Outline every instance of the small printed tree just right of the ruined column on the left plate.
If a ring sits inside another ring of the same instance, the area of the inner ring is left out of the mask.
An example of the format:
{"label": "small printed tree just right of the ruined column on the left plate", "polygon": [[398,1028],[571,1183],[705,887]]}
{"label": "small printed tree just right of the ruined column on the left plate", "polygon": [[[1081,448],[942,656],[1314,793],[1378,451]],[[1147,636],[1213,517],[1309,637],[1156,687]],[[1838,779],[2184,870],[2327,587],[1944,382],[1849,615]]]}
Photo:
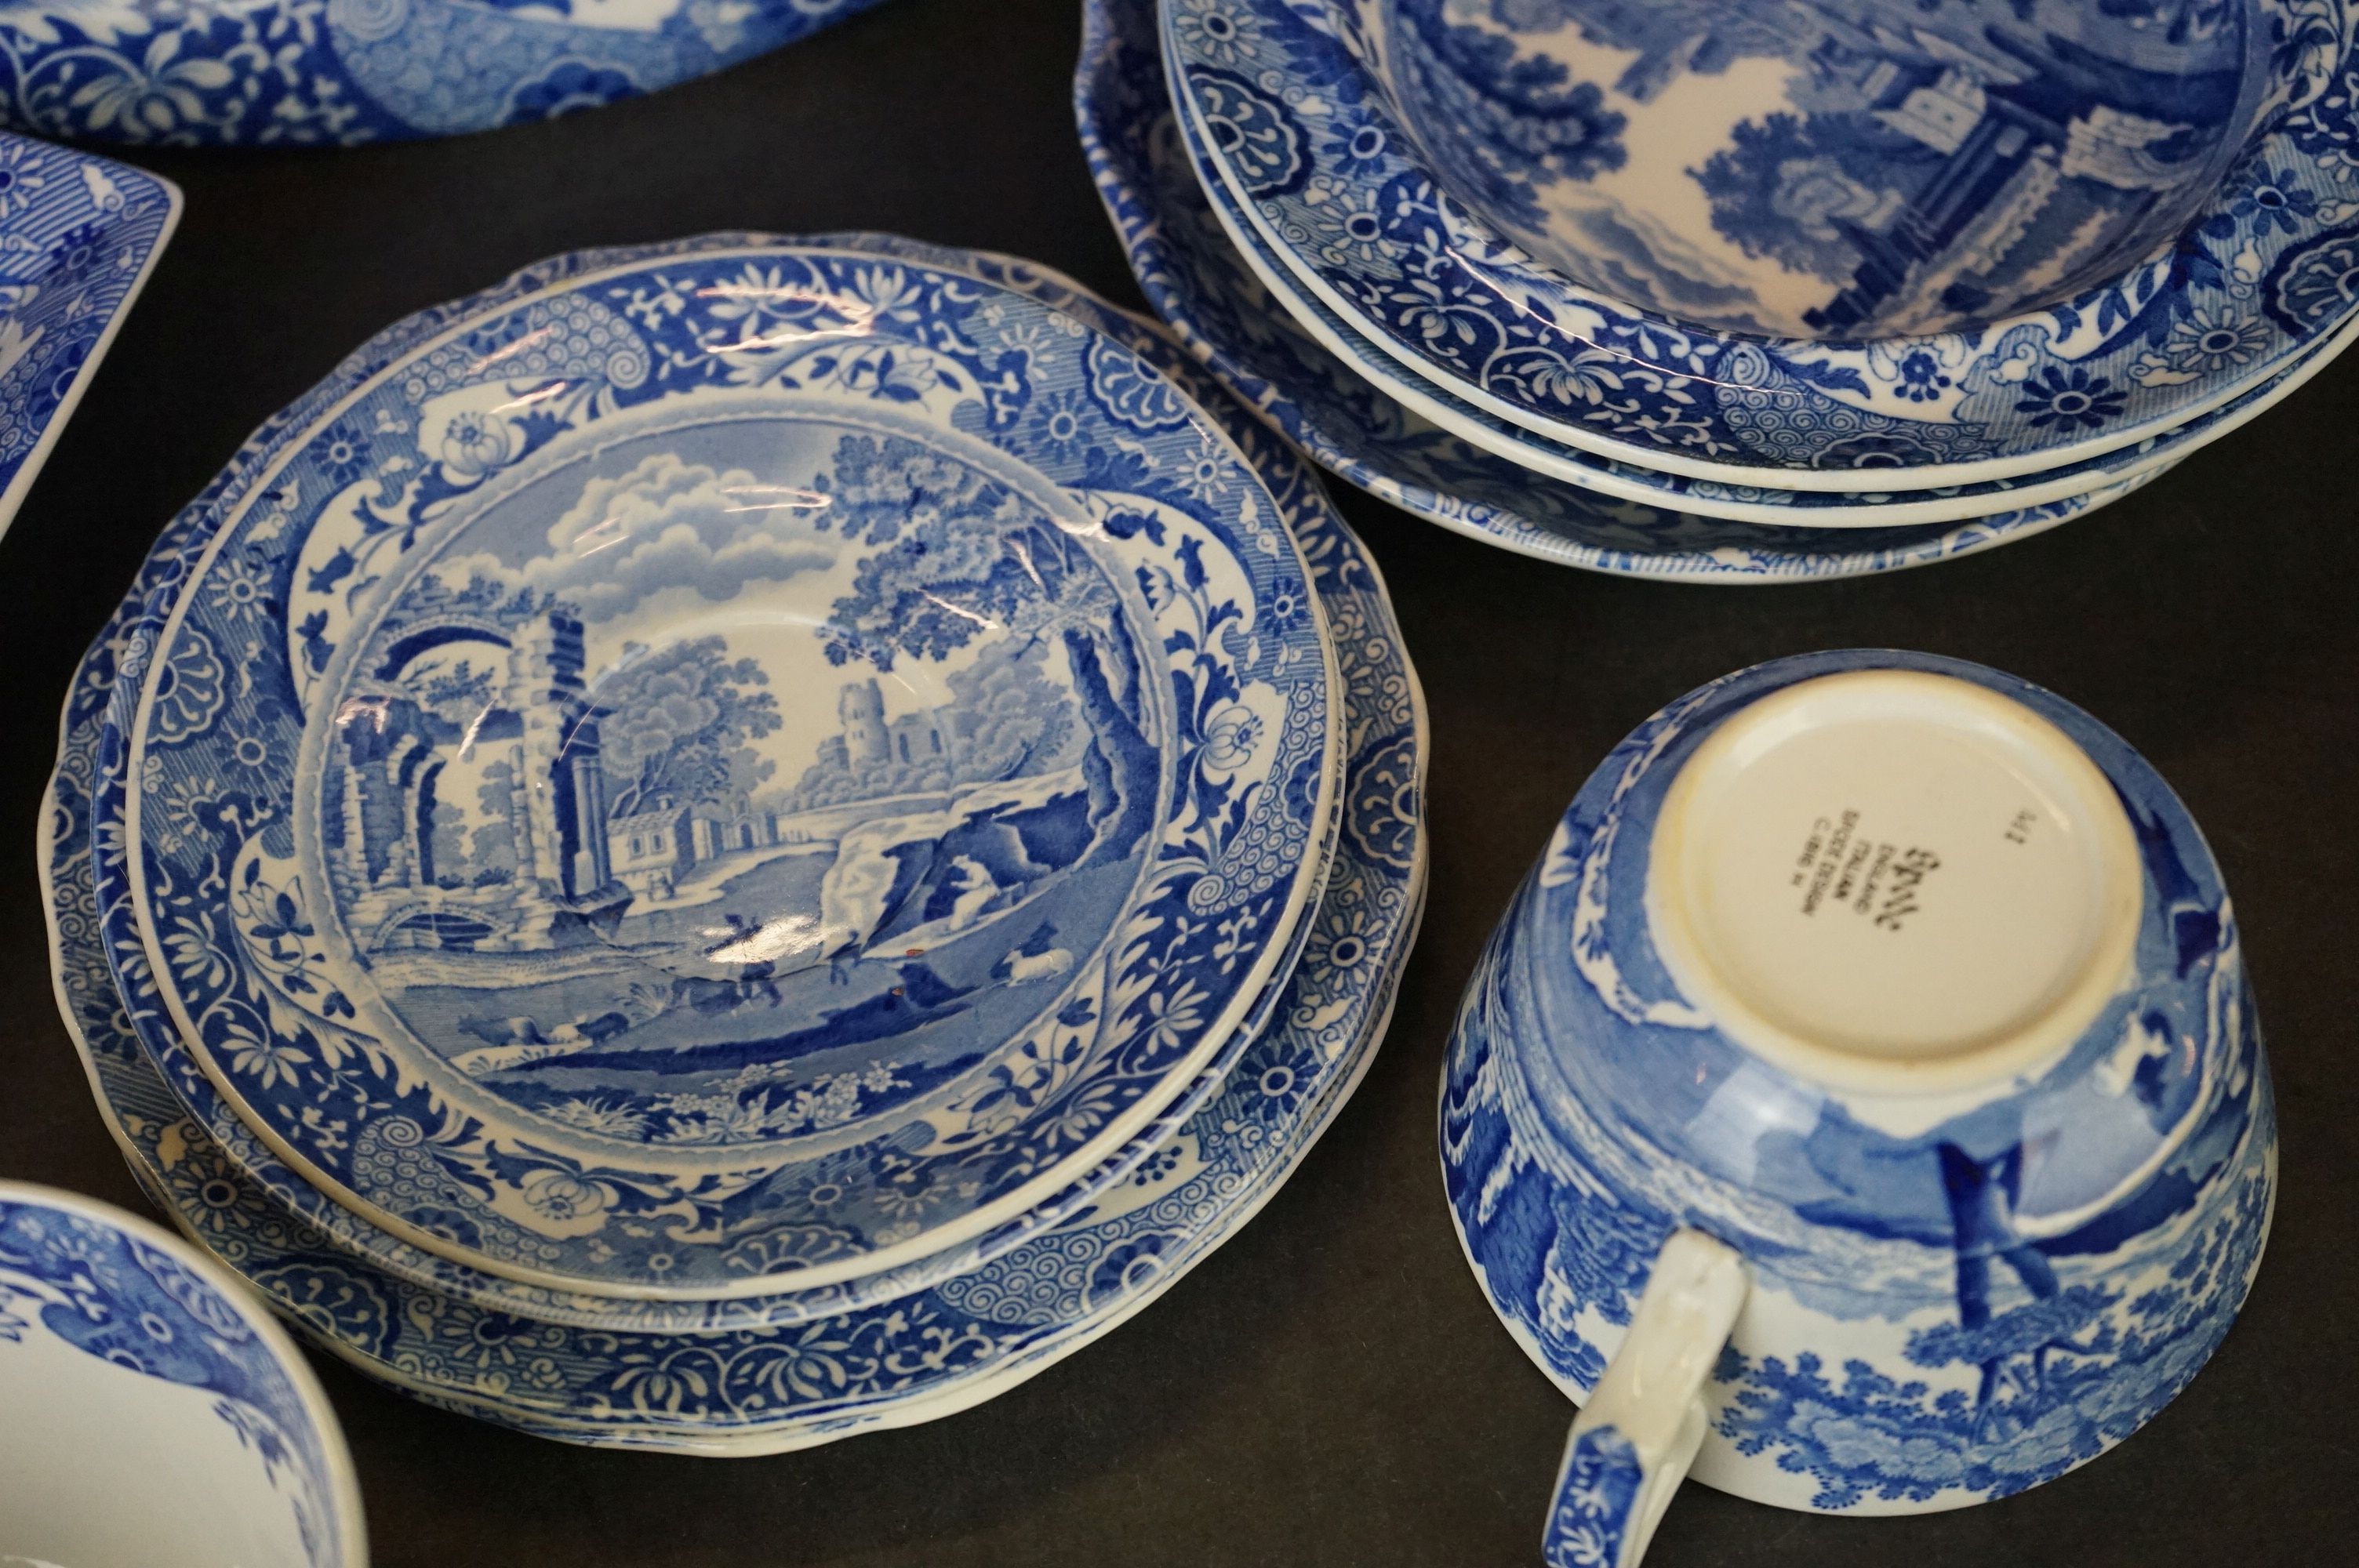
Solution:
{"label": "small printed tree just right of the ruined column on the left plate", "polygon": [[778,729],[778,698],[753,658],[722,637],[637,653],[599,691],[609,816],[717,804],[760,785],[771,764],[745,745]]}

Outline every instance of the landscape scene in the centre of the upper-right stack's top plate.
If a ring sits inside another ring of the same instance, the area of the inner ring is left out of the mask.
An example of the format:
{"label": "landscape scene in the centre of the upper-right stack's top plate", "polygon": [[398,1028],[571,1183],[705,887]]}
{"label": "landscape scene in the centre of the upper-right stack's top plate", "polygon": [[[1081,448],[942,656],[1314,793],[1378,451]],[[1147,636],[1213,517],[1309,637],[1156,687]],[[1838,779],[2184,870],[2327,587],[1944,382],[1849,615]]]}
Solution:
{"label": "landscape scene in the centre of the upper-right stack's top plate", "polygon": [[1359,9],[1467,210],[1585,288],[1774,337],[1951,330],[2137,266],[2269,71],[2255,0]]}

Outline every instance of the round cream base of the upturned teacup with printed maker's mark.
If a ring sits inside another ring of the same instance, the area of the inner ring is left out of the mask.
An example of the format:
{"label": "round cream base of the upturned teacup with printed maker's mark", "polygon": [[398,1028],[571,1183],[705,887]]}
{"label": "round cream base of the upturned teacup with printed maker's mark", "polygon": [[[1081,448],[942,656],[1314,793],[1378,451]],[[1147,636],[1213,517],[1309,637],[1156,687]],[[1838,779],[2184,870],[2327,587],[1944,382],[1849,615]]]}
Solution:
{"label": "round cream base of the upturned teacup with printed maker's mark", "polygon": [[1866,670],[1727,719],[1656,818],[1647,908],[1736,1042],[1852,1092],[1970,1089],[2059,1056],[2130,976],[2137,839],[2055,724]]}

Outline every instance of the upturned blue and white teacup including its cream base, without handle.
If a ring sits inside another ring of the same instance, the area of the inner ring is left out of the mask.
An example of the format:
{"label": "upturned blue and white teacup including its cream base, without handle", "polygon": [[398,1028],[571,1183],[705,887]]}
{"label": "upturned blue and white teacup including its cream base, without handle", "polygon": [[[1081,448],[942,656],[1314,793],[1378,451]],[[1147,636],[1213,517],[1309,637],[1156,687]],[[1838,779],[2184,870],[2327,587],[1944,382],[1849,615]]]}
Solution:
{"label": "upturned blue and white teacup including its cream base, without handle", "polygon": [[2062,698],[1882,651],[1715,681],[1597,769],[1467,988],[1441,1160],[1576,1401],[1661,1353],[1628,1325],[1665,1238],[1734,1254],[1694,1474],[1842,1514],[2135,1434],[2227,1335],[2276,1188],[2184,806]]}

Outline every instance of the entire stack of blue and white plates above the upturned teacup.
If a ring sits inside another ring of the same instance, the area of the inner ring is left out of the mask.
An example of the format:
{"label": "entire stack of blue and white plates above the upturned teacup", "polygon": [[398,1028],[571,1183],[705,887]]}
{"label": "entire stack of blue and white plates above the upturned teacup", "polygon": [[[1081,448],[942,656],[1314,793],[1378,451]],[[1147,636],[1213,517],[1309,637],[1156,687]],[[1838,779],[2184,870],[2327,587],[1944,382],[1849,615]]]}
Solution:
{"label": "entire stack of blue and white plates above the upturned teacup", "polygon": [[1345,479],[1786,580],[2092,512],[2359,309],[2352,0],[1090,0],[1156,309]]}

